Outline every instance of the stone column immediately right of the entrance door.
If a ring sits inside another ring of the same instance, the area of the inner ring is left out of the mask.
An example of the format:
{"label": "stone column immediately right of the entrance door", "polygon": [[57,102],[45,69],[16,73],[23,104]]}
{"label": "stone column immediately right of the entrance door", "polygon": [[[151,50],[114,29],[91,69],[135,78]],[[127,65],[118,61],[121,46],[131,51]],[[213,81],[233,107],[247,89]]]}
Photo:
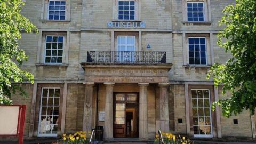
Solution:
{"label": "stone column immediately right of the entrance door", "polygon": [[149,83],[139,83],[139,138],[148,139],[148,95],[147,87]]}

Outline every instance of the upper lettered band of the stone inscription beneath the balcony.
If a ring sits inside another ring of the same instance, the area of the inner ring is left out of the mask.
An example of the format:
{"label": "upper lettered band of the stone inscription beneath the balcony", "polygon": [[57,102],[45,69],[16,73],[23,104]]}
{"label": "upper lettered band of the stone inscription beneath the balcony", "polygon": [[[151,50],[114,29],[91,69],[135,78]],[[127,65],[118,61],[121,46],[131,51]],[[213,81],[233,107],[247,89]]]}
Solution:
{"label": "upper lettered band of the stone inscription beneath the balcony", "polygon": [[167,77],[166,69],[85,69],[85,76],[156,76]]}

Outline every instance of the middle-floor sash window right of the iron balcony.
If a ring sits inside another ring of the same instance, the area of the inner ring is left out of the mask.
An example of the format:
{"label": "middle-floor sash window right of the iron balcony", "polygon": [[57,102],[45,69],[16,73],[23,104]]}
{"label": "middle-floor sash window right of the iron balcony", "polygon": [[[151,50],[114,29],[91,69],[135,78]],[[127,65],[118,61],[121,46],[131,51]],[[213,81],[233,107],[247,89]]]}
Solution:
{"label": "middle-floor sash window right of the iron balcony", "polygon": [[207,65],[205,37],[189,37],[188,49],[189,65]]}

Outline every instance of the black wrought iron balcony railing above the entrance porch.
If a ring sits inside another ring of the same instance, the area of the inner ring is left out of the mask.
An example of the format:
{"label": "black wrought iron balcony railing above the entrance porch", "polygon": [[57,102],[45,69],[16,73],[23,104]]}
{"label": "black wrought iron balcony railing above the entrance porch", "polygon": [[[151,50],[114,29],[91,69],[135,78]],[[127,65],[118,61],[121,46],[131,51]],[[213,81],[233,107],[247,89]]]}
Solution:
{"label": "black wrought iron balcony railing above the entrance porch", "polygon": [[166,52],[151,51],[88,51],[87,62],[92,63],[166,63]]}

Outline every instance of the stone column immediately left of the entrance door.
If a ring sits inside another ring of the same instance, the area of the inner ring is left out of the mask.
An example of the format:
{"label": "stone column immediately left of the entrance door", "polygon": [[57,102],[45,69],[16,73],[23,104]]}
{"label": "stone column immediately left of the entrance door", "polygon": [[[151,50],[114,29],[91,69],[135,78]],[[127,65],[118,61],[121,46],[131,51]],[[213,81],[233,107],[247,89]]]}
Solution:
{"label": "stone column immediately left of the entrance door", "polygon": [[115,83],[104,83],[106,86],[104,138],[113,138],[113,87]]}

